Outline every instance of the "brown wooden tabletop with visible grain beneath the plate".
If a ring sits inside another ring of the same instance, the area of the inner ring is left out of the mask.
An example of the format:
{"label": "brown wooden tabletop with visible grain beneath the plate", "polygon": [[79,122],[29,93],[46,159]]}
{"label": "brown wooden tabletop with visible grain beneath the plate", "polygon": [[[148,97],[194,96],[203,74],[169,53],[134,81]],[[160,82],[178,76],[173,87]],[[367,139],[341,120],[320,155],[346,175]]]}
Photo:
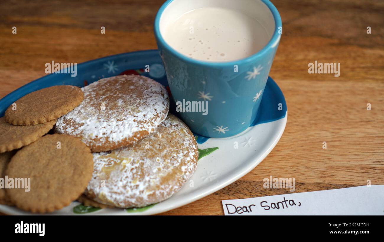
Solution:
{"label": "brown wooden tabletop with visible grain beneath the plate", "polygon": [[[81,63],[156,49],[152,25],[162,2],[2,1],[0,97],[46,75],[44,65],[52,60]],[[273,3],[283,20],[270,72],[288,106],[283,136],[252,172],[164,214],[222,215],[222,199],[289,193],[264,189],[263,178],[270,175],[295,178],[295,192],[366,185],[367,180],[384,184],[384,2]],[[308,74],[314,61],[340,63],[340,76]]]}

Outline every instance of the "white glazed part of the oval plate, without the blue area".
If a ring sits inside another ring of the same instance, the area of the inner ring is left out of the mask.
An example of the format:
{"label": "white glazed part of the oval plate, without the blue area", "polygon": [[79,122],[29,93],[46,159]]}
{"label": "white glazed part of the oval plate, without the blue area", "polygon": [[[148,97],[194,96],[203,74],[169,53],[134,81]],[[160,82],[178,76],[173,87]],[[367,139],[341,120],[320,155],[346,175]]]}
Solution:
{"label": "white glazed part of the oval plate, without the blue area", "polygon": [[[166,201],[157,203],[145,211],[127,213],[125,209],[106,208],[80,215],[157,214],[181,207],[208,196],[243,177],[260,164],[260,162],[262,162],[262,160],[271,152],[273,147],[276,146],[284,132],[286,121],[287,115],[276,121],[250,127],[237,136],[224,139],[210,138],[204,142],[204,144],[199,144],[199,149],[210,147],[219,147],[219,149],[199,160],[194,174],[180,191]],[[249,140],[250,142],[247,143]],[[234,148],[235,142],[238,142],[238,149]],[[76,214],[73,213],[73,208],[79,204],[79,202],[73,202],[69,206],[51,214]],[[15,207],[5,205],[0,205],[0,211],[14,215],[31,214]]]}

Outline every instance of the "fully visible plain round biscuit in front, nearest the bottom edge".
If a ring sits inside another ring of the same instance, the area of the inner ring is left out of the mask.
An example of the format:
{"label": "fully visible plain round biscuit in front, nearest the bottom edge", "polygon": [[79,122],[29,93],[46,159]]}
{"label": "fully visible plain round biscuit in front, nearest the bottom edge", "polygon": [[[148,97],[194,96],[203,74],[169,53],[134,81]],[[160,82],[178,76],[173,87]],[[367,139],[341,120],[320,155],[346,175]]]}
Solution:
{"label": "fully visible plain round biscuit in front, nearest the bottom edge", "polygon": [[91,179],[91,150],[80,139],[48,134],[23,147],[11,159],[8,178],[30,178],[30,191],[7,189],[12,203],[32,213],[61,209],[76,200]]}

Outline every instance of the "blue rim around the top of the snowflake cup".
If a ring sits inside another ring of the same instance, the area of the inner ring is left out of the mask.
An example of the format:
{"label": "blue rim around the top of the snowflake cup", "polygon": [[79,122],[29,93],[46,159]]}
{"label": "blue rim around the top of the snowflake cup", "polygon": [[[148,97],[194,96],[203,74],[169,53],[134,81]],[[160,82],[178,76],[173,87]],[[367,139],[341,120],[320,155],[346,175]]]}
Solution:
{"label": "blue rim around the top of the snowflake cup", "polygon": [[162,35],[160,33],[161,15],[164,12],[164,10],[168,7],[168,5],[173,1],[174,0],[167,0],[159,8],[159,11],[157,11],[155,23],[154,23],[154,32],[155,32],[155,36],[157,38],[157,41],[159,41],[162,46],[166,47],[166,49],[168,51],[170,51],[173,55],[175,55],[176,57],[178,57],[182,61],[189,62],[189,63],[195,64],[195,65],[204,65],[204,66],[209,66],[209,67],[223,67],[223,66],[228,66],[228,65],[247,64],[250,62],[254,62],[256,59],[263,56],[263,54],[265,54],[269,49],[274,48],[280,41],[281,34],[278,33],[278,28],[282,27],[282,24],[281,24],[281,17],[280,17],[279,11],[275,7],[275,5],[273,5],[273,3],[271,3],[269,0],[260,0],[269,8],[269,10],[271,11],[271,13],[273,15],[273,19],[275,20],[275,31],[273,33],[273,36],[270,39],[270,41],[260,51],[256,52],[255,54],[253,54],[251,56],[245,57],[243,59],[238,59],[235,61],[227,61],[227,62],[211,62],[211,61],[200,61],[200,60],[196,60],[196,59],[191,59],[191,58],[184,56],[183,54],[179,53],[172,46],[170,46],[164,40],[164,38],[162,37]]}

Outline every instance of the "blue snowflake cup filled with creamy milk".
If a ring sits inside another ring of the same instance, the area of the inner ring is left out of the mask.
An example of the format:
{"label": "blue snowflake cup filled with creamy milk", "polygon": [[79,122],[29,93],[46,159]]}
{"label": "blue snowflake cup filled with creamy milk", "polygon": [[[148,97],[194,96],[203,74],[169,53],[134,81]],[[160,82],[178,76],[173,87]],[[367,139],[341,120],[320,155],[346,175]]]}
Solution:
{"label": "blue snowflake cup filled with creamy milk", "polygon": [[257,120],[281,29],[268,0],[162,5],[154,24],[157,46],[176,110],[193,132],[229,137]]}

